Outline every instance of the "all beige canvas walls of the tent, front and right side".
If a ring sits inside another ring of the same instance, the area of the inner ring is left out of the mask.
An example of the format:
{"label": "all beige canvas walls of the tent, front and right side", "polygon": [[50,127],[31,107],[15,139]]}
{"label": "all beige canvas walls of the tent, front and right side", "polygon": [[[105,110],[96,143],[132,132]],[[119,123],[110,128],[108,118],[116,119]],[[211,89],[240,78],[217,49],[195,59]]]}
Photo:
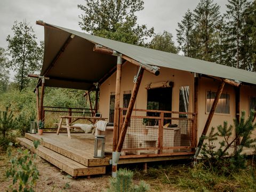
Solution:
{"label": "all beige canvas walls of the tent, front and right side", "polygon": [[[121,103],[120,106],[123,107],[123,92],[132,91],[133,89],[133,77],[137,74],[138,68],[131,63],[126,63],[122,67],[122,83],[121,83]],[[153,74],[145,71],[137,100],[135,102],[134,108],[137,109],[147,109],[147,90],[145,86],[150,82],[160,82],[160,81],[172,81],[173,92],[172,92],[172,111],[179,111],[179,88],[180,86],[189,86],[189,112],[193,112],[194,106],[194,75],[187,71],[174,70],[169,68],[161,68],[160,75],[155,76]],[[102,113],[102,117],[109,117],[109,103],[110,103],[110,93],[115,92],[115,82],[116,82],[116,73],[109,77],[101,86],[100,86],[100,101],[99,101],[99,111]],[[204,125],[209,113],[206,113],[206,91],[217,91],[220,82],[213,79],[200,77],[199,78],[199,91],[198,91],[198,126],[197,126],[197,142],[199,137],[202,134]],[[227,121],[228,124],[233,124],[233,119],[235,118],[235,90],[231,85],[226,84],[223,93],[228,93],[230,95],[230,114],[215,114],[213,116],[211,127],[217,127],[220,124],[223,124],[224,121]],[[241,110],[245,110],[248,114],[249,108],[249,96],[256,96],[256,88],[250,86],[241,87]],[[137,112],[136,115],[145,115],[143,113]],[[174,117],[174,115],[173,115]],[[209,131],[208,131],[209,133]],[[233,133],[234,136],[235,133]],[[256,136],[256,131],[253,133]],[[218,144],[219,141],[216,143]]]}

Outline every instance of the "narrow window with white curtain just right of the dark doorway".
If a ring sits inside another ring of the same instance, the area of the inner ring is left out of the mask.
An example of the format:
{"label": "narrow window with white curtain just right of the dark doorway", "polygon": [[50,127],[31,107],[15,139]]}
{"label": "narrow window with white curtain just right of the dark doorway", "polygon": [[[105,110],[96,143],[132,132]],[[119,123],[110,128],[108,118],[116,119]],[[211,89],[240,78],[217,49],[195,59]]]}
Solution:
{"label": "narrow window with white curtain just right of the dark doorway", "polygon": [[[189,86],[180,87],[179,111],[188,113]],[[188,118],[187,114],[179,114],[180,118]]]}

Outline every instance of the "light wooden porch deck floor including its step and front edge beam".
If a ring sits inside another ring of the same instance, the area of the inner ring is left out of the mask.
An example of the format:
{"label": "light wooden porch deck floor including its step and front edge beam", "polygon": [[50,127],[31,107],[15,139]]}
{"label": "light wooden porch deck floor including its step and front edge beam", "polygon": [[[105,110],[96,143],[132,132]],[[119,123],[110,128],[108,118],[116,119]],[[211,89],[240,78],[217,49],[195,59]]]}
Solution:
{"label": "light wooden porch deck floor including its step and front edge beam", "polygon": [[[67,133],[43,133],[42,135],[26,133],[25,138],[18,138],[21,145],[46,161],[59,167],[73,177],[82,175],[105,174],[106,166],[110,166],[112,142],[106,140],[106,157],[94,158],[94,135],[72,133],[68,139]],[[40,140],[37,150],[33,146],[34,140]],[[190,158],[193,153],[173,153],[159,156],[141,155],[141,157],[121,156],[118,164],[167,161],[171,159]]]}

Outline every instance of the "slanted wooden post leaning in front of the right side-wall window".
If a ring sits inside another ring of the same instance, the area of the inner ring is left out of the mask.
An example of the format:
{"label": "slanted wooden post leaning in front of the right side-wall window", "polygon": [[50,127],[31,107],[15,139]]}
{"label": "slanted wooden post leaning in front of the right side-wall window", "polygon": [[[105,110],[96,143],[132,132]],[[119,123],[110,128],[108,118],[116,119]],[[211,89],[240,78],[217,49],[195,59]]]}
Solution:
{"label": "slanted wooden post leaning in front of the right side-wall window", "polygon": [[215,99],[214,99],[214,101],[213,101],[213,103],[212,103],[211,111],[210,111],[210,113],[209,113],[209,115],[208,115],[207,121],[206,121],[206,123],[205,123],[205,125],[204,125],[203,133],[202,133],[202,135],[201,135],[201,137],[200,137],[200,139],[199,139],[198,145],[197,145],[196,153],[195,153],[195,156],[194,156],[195,161],[196,161],[197,155],[199,154],[199,152],[200,152],[200,150],[201,150],[201,147],[202,147],[202,145],[203,145],[204,138],[205,138],[206,133],[207,133],[207,131],[208,131],[208,129],[209,129],[209,126],[210,126],[210,124],[211,124],[212,117],[213,117],[213,115],[214,115],[214,112],[215,112],[215,109],[216,109],[216,107],[217,107],[218,101],[219,101],[219,99],[220,99],[221,93],[222,93],[222,91],[223,91],[224,85],[225,85],[225,82],[222,81],[222,82],[220,83],[219,87],[218,87],[218,90],[217,90]]}

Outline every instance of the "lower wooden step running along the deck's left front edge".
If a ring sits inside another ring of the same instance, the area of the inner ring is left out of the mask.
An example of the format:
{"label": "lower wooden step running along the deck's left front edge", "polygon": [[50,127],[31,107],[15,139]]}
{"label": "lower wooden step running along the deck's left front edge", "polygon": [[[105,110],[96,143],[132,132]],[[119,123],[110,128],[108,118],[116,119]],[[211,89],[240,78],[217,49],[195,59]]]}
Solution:
{"label": "lower wooden step running along the deck's left front edge", "polygon": [[28,148],[51,164],[59,167],[59,169],[70,174],[72,177],[106,173],[106,166],[87,167],[42,145],[39,145],[38,148],[35,149],[33,141],[27,138],[17,138],[17,141],[22,146]]}

